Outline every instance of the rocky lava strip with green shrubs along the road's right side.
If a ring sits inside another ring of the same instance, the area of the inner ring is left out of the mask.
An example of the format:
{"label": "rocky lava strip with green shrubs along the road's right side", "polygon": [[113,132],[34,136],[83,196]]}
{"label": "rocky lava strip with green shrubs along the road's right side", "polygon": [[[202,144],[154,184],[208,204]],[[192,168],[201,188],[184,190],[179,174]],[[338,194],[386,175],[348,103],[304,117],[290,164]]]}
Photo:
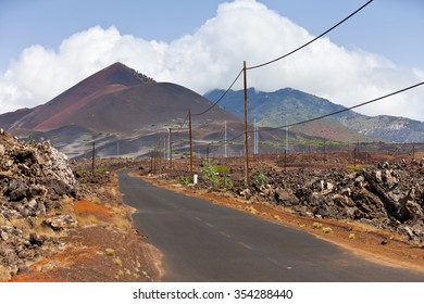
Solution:
{"label": "rocky lava strip with green shrubs along the road's right side", "polygon": [[[278,205],[302,217],[365,224],[423,246],[424,159],[352,166],[338,154],[328,154],[328,160],[336,156],[339,165],[333,168],[312,168],[310,164],[284,169],[277,159],[253,162],[249,189],[244,183],[242,162],[215,160],[217,165],[198,168],[196,188],[248,203]],[[176,164],[171,172],[162,169],[164,177],[183,185],[188,183],[184,174],[184,167],[178,170]]]}

